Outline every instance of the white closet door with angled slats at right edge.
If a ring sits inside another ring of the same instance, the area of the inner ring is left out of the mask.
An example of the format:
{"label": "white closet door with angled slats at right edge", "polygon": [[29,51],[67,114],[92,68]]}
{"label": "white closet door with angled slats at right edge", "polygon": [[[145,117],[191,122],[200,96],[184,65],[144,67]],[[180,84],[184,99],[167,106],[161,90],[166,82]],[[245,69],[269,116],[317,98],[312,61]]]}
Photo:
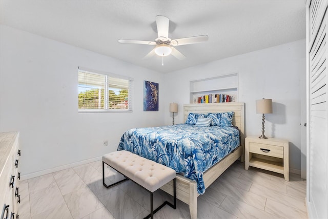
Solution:
{"label": "white closet door with angled slats at right edge", "polygon": [[[314,217],[328,218],[328,15],[325,1],[311,1],[309,51],[309,137],[310,179],[308,202]],[[323,5],[322,5],[323,4]],[[322,8],[325,6],[325,8]],[[321,8],[320,8],[321,7]],[[321,10],[320,10],[321,9]],[[324,10],[322,10],[324,9]],[[321,12],[321,15],[320,15]],[[320,18],[320,16],[321,18]],[[323,19],[322,19],[323,16]],[[311,217],[311,216],[310,216]]]}

